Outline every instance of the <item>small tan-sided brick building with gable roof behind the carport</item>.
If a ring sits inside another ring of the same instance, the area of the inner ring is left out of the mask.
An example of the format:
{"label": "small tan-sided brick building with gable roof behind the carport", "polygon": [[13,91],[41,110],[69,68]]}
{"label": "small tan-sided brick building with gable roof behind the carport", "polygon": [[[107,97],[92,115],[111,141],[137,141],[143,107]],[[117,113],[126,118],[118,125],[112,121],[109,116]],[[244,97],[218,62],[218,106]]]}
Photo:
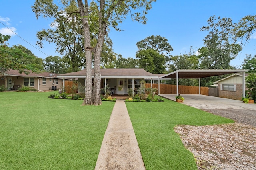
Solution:
{"label": "small tan-sided brick building with gable roof behind the carport", "polygon": [[[245,74],[247,77],[248,74]],[[232,74],[226,78],[214,82],[218,84],[218,94],[221,98],[229,98],[235,100],[242,99],[243,75],[240,73]],[[247,90],[247,89],[246,89]]]}

